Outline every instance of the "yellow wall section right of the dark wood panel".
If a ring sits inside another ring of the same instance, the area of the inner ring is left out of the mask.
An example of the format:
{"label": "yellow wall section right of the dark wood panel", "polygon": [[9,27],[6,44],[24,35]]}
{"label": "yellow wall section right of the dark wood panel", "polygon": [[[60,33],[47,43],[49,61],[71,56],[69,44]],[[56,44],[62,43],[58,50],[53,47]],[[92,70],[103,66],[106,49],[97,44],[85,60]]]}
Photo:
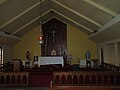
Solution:
{"label": "yellow wall section right of the dark wood panel", "polygon": [[91,58],[96,58],[96,44],[88,39],[82,31],[67,25],[67,50],[72,55],[72,63],[77,63],[78,58],[85,59],[86,50],[90,51]]}

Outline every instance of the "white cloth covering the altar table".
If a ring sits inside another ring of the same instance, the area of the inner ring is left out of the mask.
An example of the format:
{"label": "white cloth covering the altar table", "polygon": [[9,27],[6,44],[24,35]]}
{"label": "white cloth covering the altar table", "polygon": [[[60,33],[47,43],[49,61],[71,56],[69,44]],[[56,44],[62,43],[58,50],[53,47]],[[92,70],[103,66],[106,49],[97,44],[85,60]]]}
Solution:
{"label": "white cloth covering the altar table", "polygon": [[50,64],[62,64],[63,67],[64,66],[63,57],[39,57],[38,66]]}

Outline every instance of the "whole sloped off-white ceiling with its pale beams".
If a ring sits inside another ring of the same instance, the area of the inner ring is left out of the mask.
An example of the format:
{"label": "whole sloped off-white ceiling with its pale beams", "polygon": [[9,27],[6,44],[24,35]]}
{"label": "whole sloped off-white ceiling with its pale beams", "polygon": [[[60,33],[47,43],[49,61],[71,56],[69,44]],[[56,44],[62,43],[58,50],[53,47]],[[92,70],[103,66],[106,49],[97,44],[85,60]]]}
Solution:
{"label": "whole sloped off-white ceiling with its pale beams", "polygon": [[119,14],[120,0],[0,0],[0,41],[20,40],[40,20],[57,18],[100,43],[120,38]]}

